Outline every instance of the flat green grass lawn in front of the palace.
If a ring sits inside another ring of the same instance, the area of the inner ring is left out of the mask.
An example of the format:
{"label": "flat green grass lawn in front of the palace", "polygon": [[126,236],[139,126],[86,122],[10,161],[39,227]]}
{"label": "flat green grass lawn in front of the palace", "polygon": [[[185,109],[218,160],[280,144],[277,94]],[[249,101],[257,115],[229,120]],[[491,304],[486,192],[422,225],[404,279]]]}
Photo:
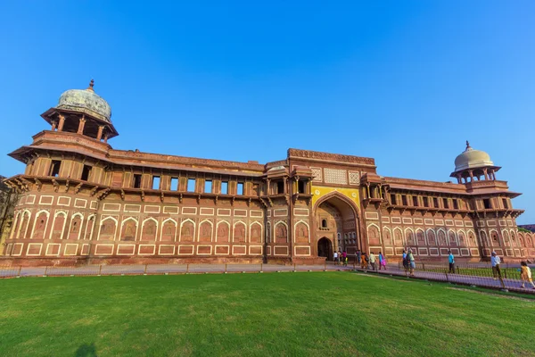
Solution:
{"label": "flat green grass lawn in front of the palace", "polygon": [[535,353],[535,300],[451,287],[350,272],[5,279],[0,355]]}

